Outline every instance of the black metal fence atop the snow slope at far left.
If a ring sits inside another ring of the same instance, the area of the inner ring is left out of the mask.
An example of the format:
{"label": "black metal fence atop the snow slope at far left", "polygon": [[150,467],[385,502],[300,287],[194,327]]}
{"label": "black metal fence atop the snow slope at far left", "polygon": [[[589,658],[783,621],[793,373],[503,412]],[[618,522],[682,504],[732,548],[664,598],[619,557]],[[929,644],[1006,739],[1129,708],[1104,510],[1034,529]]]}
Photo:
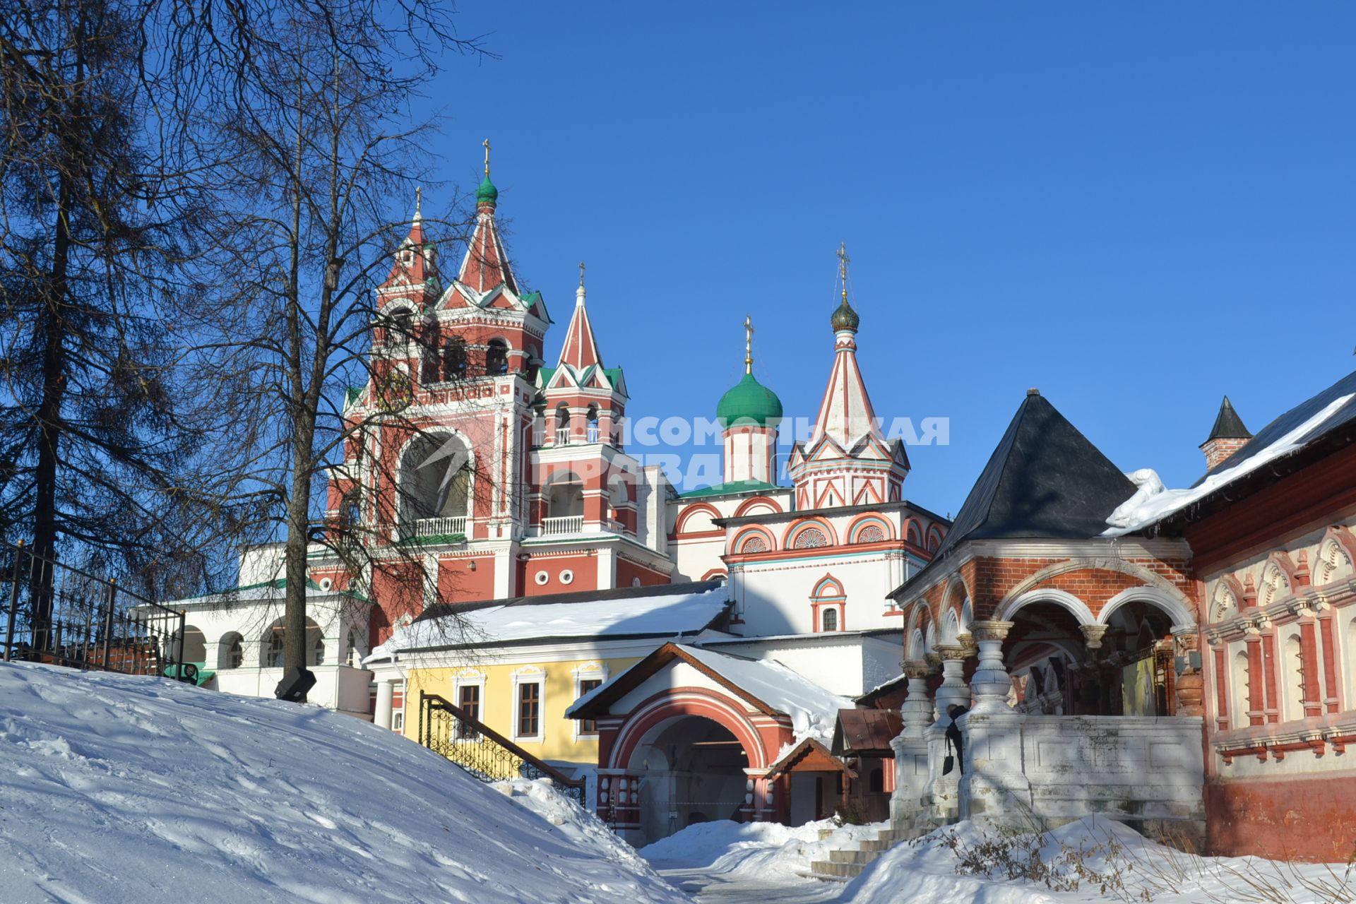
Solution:
{"label": "black metal fence atop the snow slope at far left", "polygon": [[118,587],[111,577],[0,546],[0,655],[133,675],[191,680],[184,614]]}

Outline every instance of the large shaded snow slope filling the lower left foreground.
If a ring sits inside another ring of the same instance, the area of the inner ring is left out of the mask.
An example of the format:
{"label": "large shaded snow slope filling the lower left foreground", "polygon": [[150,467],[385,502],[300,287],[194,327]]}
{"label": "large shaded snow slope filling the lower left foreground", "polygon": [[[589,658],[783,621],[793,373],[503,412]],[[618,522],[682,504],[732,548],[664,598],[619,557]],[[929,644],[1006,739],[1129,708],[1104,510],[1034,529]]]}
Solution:
{"label": "large shaded snow slope filling the lower left foreground", "polygon": [[5,904],[678,904],[544,783],[319,707],[0,664]]}

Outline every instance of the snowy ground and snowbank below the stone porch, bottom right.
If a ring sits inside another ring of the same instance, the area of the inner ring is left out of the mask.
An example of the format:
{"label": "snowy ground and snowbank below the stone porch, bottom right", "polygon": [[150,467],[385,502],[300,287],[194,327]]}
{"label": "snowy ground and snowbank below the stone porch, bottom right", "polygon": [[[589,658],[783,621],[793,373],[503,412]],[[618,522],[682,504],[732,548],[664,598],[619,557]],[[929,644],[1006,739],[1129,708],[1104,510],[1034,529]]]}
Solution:
{"label": "snowy ground and snowbank below the stone porch, bottom right", "polygon": [[1090,817],[1044,836],[984,832],[959,823],[896,844],[849,884],[797,878],[830,847],[872,834],[705,823],[640,854],[700,901],[757,904],[1074,904],[1157,901],[1349,904],[1356,871],[1345,865],[1290,865],[1257,858],[1204,858],[1146,840],[1120,823]]}

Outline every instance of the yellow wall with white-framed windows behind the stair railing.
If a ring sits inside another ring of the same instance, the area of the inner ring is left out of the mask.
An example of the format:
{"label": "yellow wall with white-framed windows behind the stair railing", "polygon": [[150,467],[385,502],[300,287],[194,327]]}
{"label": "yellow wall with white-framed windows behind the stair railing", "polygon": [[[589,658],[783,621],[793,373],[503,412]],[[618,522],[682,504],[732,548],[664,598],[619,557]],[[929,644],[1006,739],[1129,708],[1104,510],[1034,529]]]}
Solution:
{"label": "yellow wall with white-framed windows behind the stair railing", "polygon": [[[606,676],[620,675],[637,663],[629,659],[575,659],[536,663],[483,663],[479,665],[449,665],[411,668],[405,679],[404,729],[405,737],[419,740],[419,693],[438,694],[450,703],[460,703],[457,678],[465,675],[484,684],[480,691],[480,721],[513,740],[529,754],[544,760],[565,760],[584,766],[598,763],[598,736],[575,737],[575,720],[565,718],[565,710],[578,698],[575,693],[576,670],[587,670],[599,664],[606,667]],[[514,675],[526,680],[537,680],[533,670],[545,672],[541,705],[541,740],[519,740],[514,736],[518,716],[517,687]]]}

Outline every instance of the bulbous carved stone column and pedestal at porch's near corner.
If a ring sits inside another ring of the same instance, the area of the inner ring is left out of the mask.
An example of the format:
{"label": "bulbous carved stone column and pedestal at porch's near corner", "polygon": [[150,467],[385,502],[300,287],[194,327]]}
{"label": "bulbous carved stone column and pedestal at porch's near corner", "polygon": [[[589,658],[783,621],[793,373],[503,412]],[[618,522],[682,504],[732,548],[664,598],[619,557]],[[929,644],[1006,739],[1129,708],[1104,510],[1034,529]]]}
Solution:
{"label": "bulbous carved stone column and pedestal at porch's near corner", "polygon": [[957,722],[963,739],[960,816],[1020,825],[1032,800],[1022,751],[1026,714],[1008,706],[1012,679],[1002,660],[1003,638],[1012,626],[997,621],[972,625],[980,659],[971,678],[975,706]]}

